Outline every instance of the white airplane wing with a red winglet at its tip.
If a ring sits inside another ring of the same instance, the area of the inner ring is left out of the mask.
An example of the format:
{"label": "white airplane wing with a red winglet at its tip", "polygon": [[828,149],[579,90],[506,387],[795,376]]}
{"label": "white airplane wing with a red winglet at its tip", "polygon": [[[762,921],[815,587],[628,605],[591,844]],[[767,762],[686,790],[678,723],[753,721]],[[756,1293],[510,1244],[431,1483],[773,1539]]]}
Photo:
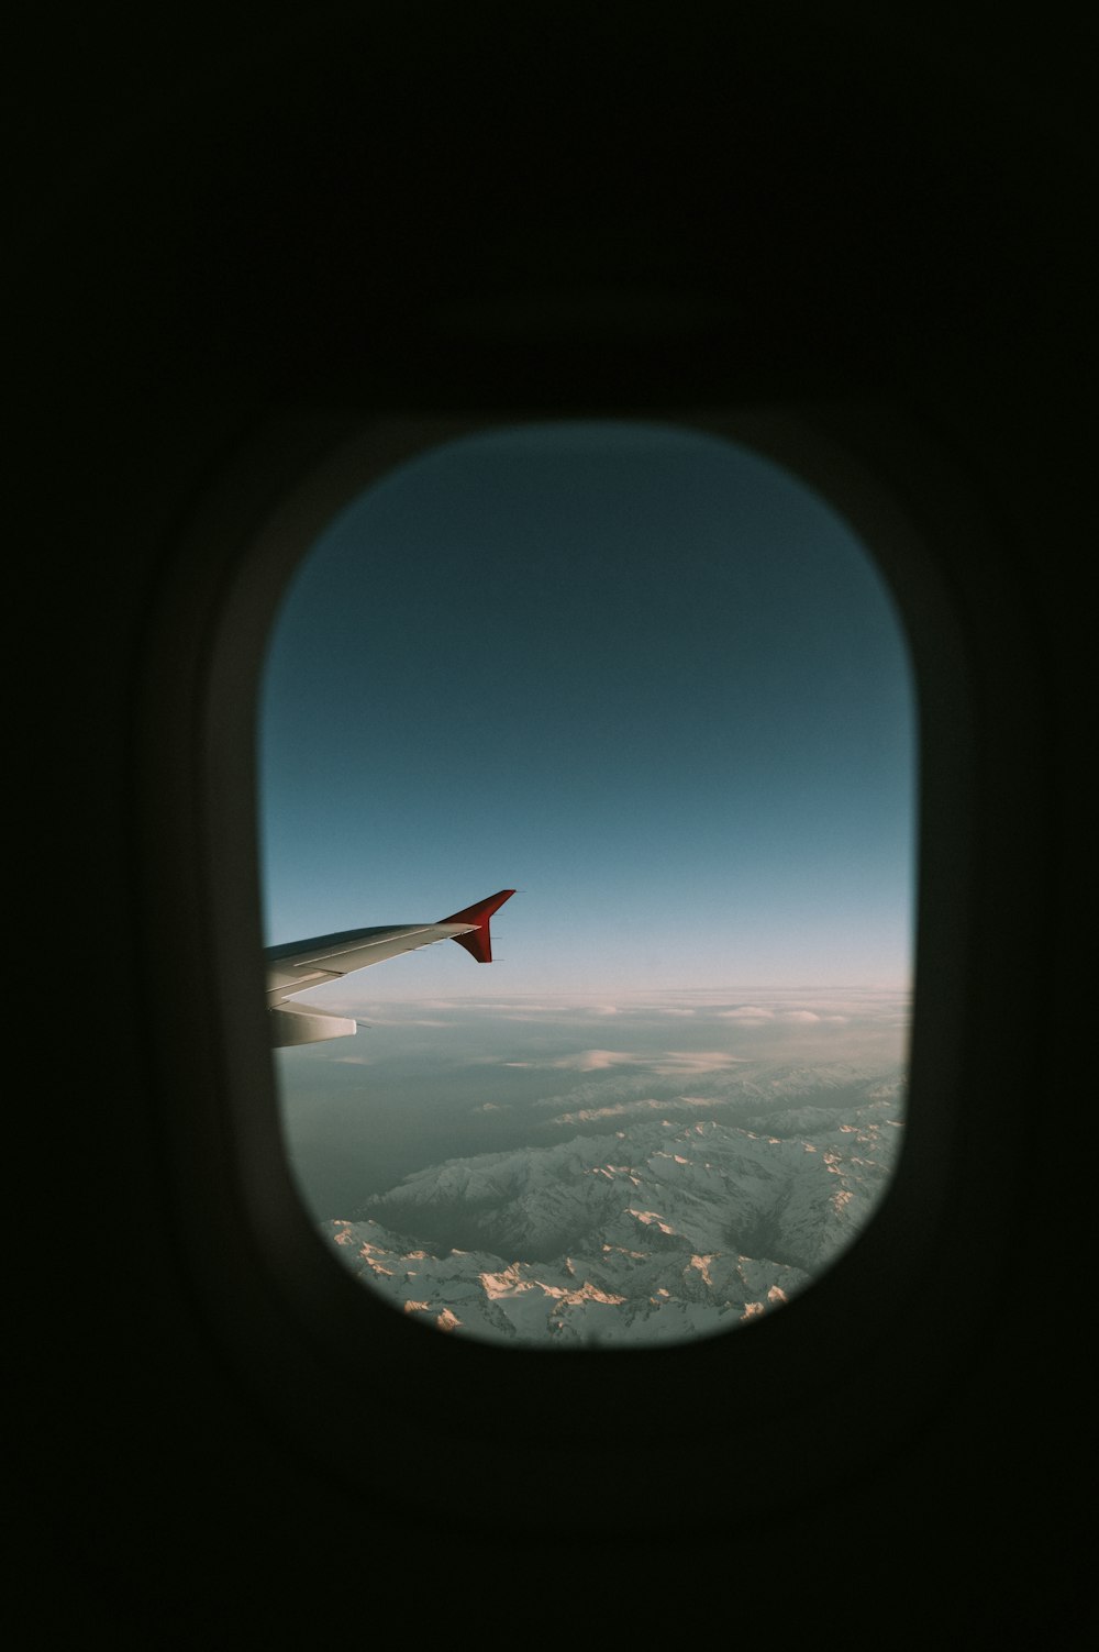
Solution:
{"label": "white airplane wing with a red winglet at its tip", "polygon": [[291,940],[281,947],[266,948],[268,965],[268,1014],[271,1018],[271,1042],[316,1044],[326,1037],[345,1037],[357,1029],[354,1019],[335,1016],[326,1009],[286,1003],[309,986],[337,981],[354,970],[365,970],[402,952],[416,952],[436,940],[456,940],[473,953],[478,963],[492,961],[492,937],[489,919],[514,895],[514,889],[478,900],[461,912],[451,912],[438,923],[397,923],[377,928],[340,930],[337,935],[314,935],[312,940]]}

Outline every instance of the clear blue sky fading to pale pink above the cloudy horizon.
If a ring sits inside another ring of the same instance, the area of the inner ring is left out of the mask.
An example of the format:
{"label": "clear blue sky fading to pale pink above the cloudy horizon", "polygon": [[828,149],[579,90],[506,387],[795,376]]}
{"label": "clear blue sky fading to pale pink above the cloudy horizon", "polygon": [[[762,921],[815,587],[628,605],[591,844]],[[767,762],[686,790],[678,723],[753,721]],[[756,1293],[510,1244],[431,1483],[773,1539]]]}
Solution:
{"label": "clear blue sky fading to pale pink above the cloudy horizon", "polygon": [[502,887],[496,957],[372,1001],[911,975],[916,707],[844,520],[676,426],[516,426],[344,509],[291,583],[261,704],[268,942]]}

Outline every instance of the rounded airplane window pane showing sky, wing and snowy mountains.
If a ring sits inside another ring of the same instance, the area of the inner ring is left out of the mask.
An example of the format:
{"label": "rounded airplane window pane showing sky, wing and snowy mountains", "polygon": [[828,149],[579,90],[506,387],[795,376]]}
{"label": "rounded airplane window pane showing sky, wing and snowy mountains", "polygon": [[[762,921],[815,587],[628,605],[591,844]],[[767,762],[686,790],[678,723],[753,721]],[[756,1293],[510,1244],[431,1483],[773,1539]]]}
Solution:
{"label": "rounded airplane window pane showing sky, wing and snowy mountains", "polygon": [[884,578],[760,453],[544,423],[354,497],[259,750],[283,1133],[334,1256],[509,1345],[790,1302],[901,1151],[916,781]]}

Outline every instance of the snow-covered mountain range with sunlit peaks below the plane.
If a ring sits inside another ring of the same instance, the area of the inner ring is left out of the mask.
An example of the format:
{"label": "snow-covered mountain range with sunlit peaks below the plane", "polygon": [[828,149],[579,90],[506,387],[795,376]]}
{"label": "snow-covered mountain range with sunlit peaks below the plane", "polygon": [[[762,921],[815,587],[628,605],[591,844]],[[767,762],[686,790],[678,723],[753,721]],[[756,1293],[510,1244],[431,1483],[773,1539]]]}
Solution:
{"label": "snow-covered mountain range with sunlit peaks below the plane", "polygon": [[450,1160],[324,1231],[365,1284],[443,1330],[544,1346],[724,1330],[851,1242],[901,1138],[896,1074],[785,1069],[752,1089],[749,1122],[649,1115]]}

